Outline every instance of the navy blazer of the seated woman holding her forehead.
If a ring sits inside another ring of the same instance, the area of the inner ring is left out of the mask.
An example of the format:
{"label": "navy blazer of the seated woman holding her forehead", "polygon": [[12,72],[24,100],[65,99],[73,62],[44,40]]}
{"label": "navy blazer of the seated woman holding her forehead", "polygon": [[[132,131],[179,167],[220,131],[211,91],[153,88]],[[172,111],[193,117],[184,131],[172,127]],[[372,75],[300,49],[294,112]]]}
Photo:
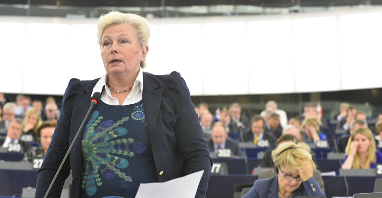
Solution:
{"label": "navy blazer of the seated woman holding her forehead", "polygon": [[[278,198],[277,179],[278,176],[256,180],[254,186],[243,198]],[[325,197],[325,193],[321,191],[314,177],[311,177],[293,191],[291,198],[296,196]]]}

